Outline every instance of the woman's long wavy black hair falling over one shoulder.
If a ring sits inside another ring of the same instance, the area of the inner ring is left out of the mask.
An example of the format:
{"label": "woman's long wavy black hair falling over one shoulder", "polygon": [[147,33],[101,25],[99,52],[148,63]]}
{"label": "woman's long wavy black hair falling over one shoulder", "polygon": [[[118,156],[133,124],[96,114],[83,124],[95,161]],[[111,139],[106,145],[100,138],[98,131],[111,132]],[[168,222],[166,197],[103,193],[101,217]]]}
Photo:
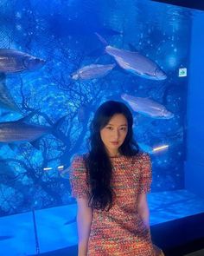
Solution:
{"label": "woman's long wavy black hair falling over one shoulder", "polygon": [[120,154],[132,156],[138,153],[137,143],[133,140],[131,111],[123,102],[108,101],[96,111],[90,127],[90,150],[85,162],[88,183],[91,187],[89,207],[109,211],[112,207],[114,191],[111,187],[112,162],[101,140],[100,130],[111,120],[113,115],[122,114],[128,123],[124,143],[118,148]]}

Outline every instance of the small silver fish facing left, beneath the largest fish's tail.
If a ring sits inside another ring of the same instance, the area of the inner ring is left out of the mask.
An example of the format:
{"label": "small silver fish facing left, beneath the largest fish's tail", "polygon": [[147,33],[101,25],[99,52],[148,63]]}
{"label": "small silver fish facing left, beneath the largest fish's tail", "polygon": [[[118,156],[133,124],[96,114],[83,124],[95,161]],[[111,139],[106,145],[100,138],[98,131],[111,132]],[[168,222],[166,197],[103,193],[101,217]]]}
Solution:
{"label": "small silver fish facing left, beneath the largest fish's tail", "polygon": [[107,64],[107,65],[100,65],[100,64],[91,64],[85,66],[81,69],[78,69],[74,72],[71,77],[73,80],[90,80],[96,79],[102,76],[107,75],[112,69],[114,69],[116,64]]}

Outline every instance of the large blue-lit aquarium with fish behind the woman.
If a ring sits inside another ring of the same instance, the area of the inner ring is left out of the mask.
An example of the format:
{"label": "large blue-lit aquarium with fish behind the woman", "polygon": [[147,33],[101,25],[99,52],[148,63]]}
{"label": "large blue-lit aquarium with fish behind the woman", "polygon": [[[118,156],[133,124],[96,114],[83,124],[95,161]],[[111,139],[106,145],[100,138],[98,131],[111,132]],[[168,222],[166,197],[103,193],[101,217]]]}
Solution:
{"label": "large blue-lit aquarium with fish behind the woman", "polygon": [[201,23],[199,10],[149,0],[0,1],[1,255],[77,245],[70,164],[108,100],[131,109],[150,154],[151,224],[194,201],[204,210]]}

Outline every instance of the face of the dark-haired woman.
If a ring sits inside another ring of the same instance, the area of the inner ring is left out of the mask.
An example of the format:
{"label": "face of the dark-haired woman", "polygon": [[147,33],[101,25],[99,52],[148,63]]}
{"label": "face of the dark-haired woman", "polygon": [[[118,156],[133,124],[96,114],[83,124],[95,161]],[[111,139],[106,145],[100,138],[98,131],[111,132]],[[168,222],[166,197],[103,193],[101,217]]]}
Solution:
{"label": "face of the dark-haired woman", "polygon": [[108,154],[115,155],[124,143],[128,132],[128,122],[123,114],[113,115],[110,121],[100,130],[101,140],[104,142]]}

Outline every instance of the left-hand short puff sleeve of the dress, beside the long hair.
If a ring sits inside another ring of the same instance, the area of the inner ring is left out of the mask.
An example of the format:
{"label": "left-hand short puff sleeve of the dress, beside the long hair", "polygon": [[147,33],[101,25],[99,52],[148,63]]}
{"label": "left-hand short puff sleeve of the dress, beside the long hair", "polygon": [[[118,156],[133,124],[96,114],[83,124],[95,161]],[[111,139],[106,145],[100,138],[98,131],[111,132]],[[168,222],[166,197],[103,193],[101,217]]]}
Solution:
{"label": "left-hand short puff sleeve of the dress, beside the long hair", "polygon": [[77,155],[73,158],[69,182],[72,197],[88,199],[89,188],[87,183],[85,161],[82,155]]}

